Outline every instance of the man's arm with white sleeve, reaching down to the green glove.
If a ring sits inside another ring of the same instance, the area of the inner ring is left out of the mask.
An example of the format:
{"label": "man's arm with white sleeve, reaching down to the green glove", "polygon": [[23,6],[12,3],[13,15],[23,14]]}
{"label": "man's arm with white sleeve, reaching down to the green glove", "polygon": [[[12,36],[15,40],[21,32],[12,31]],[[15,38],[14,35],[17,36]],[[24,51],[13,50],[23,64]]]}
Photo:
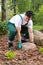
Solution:
{"label": "man's arm with white sleeve, reaching down to the green glove", "polygon": [[15,19],[15,22],[17,22],[16,23],[16,30],[17,30],[17,37],[18,37],[18,41],[20,41],[21,42],[21,34],[20,34],[20,31],[21,31],[21,24],[22,24],[22,19],[21,19],[21,17],[18,15],[18,17]]}

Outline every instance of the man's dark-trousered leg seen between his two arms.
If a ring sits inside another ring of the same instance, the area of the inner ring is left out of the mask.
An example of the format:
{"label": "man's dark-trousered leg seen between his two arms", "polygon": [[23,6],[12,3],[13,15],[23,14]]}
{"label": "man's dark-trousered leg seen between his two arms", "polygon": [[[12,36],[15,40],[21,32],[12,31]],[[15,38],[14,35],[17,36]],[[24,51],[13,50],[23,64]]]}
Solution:
{"label": "man's dark-trousered leg seen between his two arms", "polygon": [[28,27],[26,25],[21,26],[21,34],[23,34],[22,42],[26,42],[29,39]]}

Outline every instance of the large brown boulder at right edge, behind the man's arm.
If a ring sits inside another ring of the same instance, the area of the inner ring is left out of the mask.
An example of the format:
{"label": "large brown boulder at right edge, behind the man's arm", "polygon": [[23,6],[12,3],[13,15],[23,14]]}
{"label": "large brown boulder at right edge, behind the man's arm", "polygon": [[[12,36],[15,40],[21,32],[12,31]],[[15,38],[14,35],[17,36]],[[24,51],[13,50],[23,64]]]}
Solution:
{"label": "large brown boulder at right edge, behind the man's arm", "polygon": [[34,41],[36,44],[43,46],[43,33],[34,30]]}

